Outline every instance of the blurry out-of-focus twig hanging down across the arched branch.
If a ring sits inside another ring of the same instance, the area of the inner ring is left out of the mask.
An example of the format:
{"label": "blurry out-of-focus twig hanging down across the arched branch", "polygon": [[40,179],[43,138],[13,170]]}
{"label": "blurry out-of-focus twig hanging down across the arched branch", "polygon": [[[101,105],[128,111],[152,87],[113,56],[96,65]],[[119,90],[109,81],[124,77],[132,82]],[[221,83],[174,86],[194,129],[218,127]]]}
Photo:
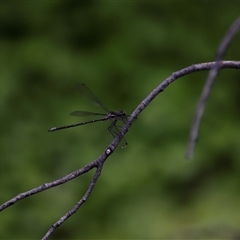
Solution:
{"label": "blurry out-of-focus twig hanging down across the arched branch", "polygon": [[202,119],[203,112],[205,109],[205,104],[210,95],[214,80],[220,69],[218,62],[223,58],[223,55],[226,52],[226,49],[227,49],[230,41],[232,40],[234,35],[237,33],[239,28],[240,28],[240,17],[229,28],[229,30],[227,31],[226,35],[224,36],[223,40],[221,41],[221,43],[218,47],[216,58],[215,58],[216,59],[215,67],[212,68],[208,74],[206,83],[203,87],[202,94],[201,94],[200,99],[197,104],[196,112],[194,114],[191,130],[190,130],[190,134],[189,134],[189,142],[188,142],[187,152],[186,152],[187,158],[192,158],[192,156],[193,156],[194,148],[195,148],[196,141],[198,138],[198,132],[199,132],[201,119]]}

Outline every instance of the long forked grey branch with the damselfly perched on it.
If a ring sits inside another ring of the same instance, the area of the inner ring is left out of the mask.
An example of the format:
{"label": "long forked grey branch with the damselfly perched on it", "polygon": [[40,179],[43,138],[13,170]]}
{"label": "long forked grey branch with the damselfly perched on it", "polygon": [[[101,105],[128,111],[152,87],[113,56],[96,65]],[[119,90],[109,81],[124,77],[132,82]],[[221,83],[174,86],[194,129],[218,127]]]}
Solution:
{"label": "long forked grey branch with the damselfly perched on it", "polygon": [[[133,113],[128,117],[128,121],[125,123],[125,125],[120,130],[121,135],[117,135],[113,141],[108,145],[108,147],[105,149],[105,151],[102,153],[101,156],[99,156],[96,160],[90,162],[89,164],[85,165],[81,169],[72,172],[65,177],[62,177],[58,180],[55,180],[53,182],[45,183],[37,188],[34,188],[30,191],[20,193],[16,197],[12,198],[11,200],[7,201],[6,203],[2,204],[0,206],[0,211],[6,209],[7,207],[15,204],[17,201],[26,198],[28,196],[34,195],[36,193],[40,193],[42,191],[45,191],[49,188],[56,187],[60,184],[66,183],[78,176],[83,175],[84,173],[87,173],[93,168],[97,168],[96,173],[94,174],[91,183],[85,193],[85,195],[79,200],[79,202],[65,215],[63,215],[56,223],[53,224],[53,226],[48,230],[46,235],[43,237],[43,239],[49,238],[51,233],[60,226],[66,219],[68,219],[73,213],[75,213],[82,204],[88,199],[90,196],[100,174],[101,170],[103,168],[103,164],[106,161],[106,159],[114,152],[117,145],[123,138],[123,136],[129,131],[132,123],[135,119],[137,119],[138,115],[149,105],[149,103],[162,91],[166,89],[167,86],[169,86],[171,83],[173,83],[175,80],[179,79],[180,77],[183,77],[187,74],[197,72],[197,71],[203,71],[203,70],[210,70],[216,66],[216,62],[207,62],[207,63],[200,63],[200,64],[193,64],[189,67],[186,67],[182,70],[179,70],[177,72],[172,73],[168,78],[166,78],[159,86],[157,86],[133,111]],[[235,68],[240,69],[240,62],[237,61],[219,61],[218,62],[219,69],[224,68]]]}

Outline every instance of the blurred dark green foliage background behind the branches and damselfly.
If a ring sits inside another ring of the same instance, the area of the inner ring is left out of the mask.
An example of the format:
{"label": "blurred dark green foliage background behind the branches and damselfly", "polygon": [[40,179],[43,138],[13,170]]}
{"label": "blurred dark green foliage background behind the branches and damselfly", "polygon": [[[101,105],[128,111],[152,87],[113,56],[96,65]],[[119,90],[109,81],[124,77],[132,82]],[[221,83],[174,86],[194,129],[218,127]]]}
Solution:
{"label": "blurred dark green foliage background behind the branches and damselfly", "polygon": [[[0,3],[0,204],[98,157],[108,123],[48,133],[98,111],[85,83],[130,114],[172,72],[212,61],[236,2]],[[239,60],[239,34],[225,59]],[[52,239],[240,238],[240,71],[221,71],[193,161],[185,159],[207,72],[179,79],[142,112],[89,200]],[[82,197],[93,172],[0,213],[1,239],[39,239]]]}

